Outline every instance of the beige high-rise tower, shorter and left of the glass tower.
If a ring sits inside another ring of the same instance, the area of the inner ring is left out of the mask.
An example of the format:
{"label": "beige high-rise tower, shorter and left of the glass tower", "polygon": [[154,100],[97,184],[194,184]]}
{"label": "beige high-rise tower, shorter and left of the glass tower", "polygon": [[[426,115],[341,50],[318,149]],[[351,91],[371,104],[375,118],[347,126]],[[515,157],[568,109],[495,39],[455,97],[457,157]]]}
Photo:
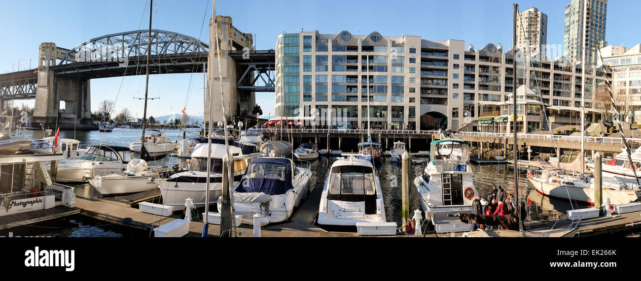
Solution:
{"label": "beige high-rise tower, shorter and left of the glass tower", "polygon": [[517,46],[531,53],[545,53],[547,44],[547,15],[537,8],[529,8],[519,12],[517,19]]}

